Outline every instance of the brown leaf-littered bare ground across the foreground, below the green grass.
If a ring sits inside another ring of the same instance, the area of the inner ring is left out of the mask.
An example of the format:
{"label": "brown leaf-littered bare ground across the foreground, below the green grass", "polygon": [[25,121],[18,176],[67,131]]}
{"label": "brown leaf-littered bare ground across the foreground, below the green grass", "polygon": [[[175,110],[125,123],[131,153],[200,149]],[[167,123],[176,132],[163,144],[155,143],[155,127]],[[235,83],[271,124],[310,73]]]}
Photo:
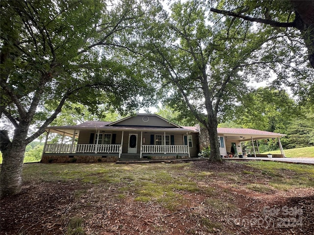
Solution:
{"label": "brown leaf-littered bare ground across the foreground, below the green grass", "polygon": [[[203,191],[180,192],[180,208],[169,211],[156,202],[136,202],[132,193],[117,198],[117,188],[64,182],[26,182],[19,195],[0,201],[1,235],[312,235],[314,190],[259,193],[235,187],[218,173],[257,171],[236,163],[193,163],[194,170],[214,172],[208,184],[221,205],[208,203]],[[216,174],[217,173],[217,174]],[[262,182],[254,174],[247,182]],[[245,183],[245,182],[244,182]],[[240,184],[240,183],[239,183]],[[203,187],[204,188],[204,187]],[[215,200],[212,200],[214,203]],[[235,205],[235,208],[231,205]],[[229,208],[230,207],[230,208]],[[228,210],[229,208],[229,210]],[[82,231],[70,231],[70,218],[82,218]]]}

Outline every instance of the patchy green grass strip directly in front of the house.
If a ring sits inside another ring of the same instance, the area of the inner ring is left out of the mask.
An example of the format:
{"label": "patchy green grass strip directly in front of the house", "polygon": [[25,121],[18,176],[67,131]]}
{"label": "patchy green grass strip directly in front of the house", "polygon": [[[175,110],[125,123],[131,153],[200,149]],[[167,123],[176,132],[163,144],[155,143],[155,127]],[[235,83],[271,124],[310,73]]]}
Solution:
{"label": "patchy green grass strip directly in front of the house", "polygon": [[[175,210],[180,203],[185,203],[182,192],[203,192],[210,196],[215,190],[208,183],[214,175],[233,185],[243,185],[243,180],[252,175],[267,178],[265,184],[244,183],[246,188],[262,193],[269,193],[274,188],[314,188],[314,167],[303,164],[278,162],[243,162],[260,170],[241,171],[238,174],[228,172],[195,172],[190,164],[27,164],[24,166],[24,181],[44,182],[80,182],[82,185],[116,185],[117,198],[133,194],[139,202],[157,202],[169,210]],[[199,184],[207,182],[207,184]],[[208,185],[209,184],[209,185]],[[83,192],[78,192],[77,197]],[[179,202],[181,201],[181,202]]]}

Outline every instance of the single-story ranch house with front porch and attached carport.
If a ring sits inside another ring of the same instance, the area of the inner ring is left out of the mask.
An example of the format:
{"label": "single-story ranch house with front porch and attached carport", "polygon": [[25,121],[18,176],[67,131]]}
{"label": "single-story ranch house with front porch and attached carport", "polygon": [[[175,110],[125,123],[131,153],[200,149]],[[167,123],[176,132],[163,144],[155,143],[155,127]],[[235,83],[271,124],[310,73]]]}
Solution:
{"label": "single-story ranch house with front porch and attached carport", "polygon": [[[283,134],[243,128],[218,128],[220,154],[242,153],[241,142],[280,138]],[[115,122],[86,121],[73,126],[49,126],[41,162],[115,162],[197,158],[208,146],[207,131],[179,126],[156,114],[136,114]],[[47,143],[50,133],[62,135],[61,143]],[[64,137],[72,138],[63,143]],[[257,143],[257,142],[256,142]],[[256,146],[258,148],[258,145]],[[281,147],[282,149],[282,147]],[[281,157],[284,157],[282,150]]]}

